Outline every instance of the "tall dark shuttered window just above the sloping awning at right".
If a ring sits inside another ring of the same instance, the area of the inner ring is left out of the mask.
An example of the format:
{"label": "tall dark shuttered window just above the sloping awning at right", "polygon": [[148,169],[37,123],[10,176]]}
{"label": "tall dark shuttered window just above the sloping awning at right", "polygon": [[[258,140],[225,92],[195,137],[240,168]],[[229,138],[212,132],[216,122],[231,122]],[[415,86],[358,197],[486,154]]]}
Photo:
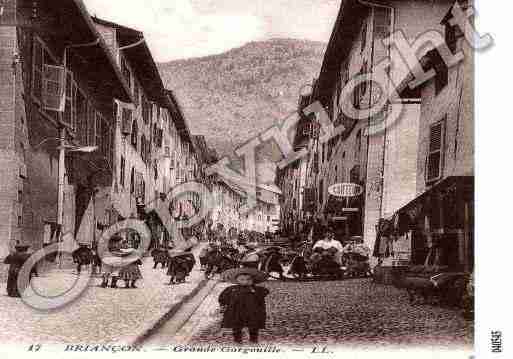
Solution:
{"label": "tall dark shuttered window just above the sloping awning at right", "polygon": [[426,164],[426,183],[432,183],[442,177],[443,150],[445,138],[445,119],[429,128],[429,151]]}

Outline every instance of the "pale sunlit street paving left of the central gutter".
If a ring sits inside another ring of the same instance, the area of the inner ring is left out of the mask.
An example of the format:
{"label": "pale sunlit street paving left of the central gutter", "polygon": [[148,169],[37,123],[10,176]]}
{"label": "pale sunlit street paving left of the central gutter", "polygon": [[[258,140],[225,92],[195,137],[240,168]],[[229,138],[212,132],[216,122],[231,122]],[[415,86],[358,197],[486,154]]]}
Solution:
{"label": "pale sunlit street paving left of the central gutter", "polygon": [[[54,269],[33,281],[35,290],[56,295],[76,280],[74,269]],[[7,267],[2,268],[7,269]],[[93,278],[90,287],[74,302],[45,313],[25,305],[20,298],[0,295],[0,342],[3,344],[116,343],[139,333],[145,325],[159,319],[174,304],[189,294],[203,279],[195,268],[185,284],[169,286],[165,269],[153,269],[152,258],[141,266],[143,279],[137,289],[101,288],[101,278]]]}

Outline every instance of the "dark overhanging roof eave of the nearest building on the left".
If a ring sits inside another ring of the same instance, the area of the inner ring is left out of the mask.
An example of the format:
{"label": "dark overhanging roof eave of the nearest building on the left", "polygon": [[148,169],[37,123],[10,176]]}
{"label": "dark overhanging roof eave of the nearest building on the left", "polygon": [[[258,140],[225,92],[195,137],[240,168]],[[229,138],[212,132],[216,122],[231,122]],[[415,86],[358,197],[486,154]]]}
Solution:
{"label": "dark overhanging roof eave of the nearest building on the left", "polygon": [[75,47],[84,61],[83,68],[91,82],[101,87],[104,92],[124,102],[132,102],[130,88],[112,53],[96,29],[82,0],[54,0],[40,2],[38,6],[46,7],[44,11],[57,13],[59,20],[58,41],[66,45],[88,44],[98,41],[97,45]]}

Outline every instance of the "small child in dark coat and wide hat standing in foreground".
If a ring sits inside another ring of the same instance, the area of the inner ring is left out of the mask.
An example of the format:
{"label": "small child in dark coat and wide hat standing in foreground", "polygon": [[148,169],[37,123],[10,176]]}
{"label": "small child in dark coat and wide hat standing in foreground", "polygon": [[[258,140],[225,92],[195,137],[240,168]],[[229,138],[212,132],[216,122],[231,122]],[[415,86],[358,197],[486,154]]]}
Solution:
{"label": "small child in dark coat and wide hat standing in foreground", "polygon": [[221,327],[232,329],[237,344],[242,344],[242,330],[248,328],[249,341],[258,343],[259,331],[265,328],[265,297],[269,290],[256,284],[265,281],[267,274],[254,268],[236,268],[224,272],[223,277],[235,285],[219,295]]}

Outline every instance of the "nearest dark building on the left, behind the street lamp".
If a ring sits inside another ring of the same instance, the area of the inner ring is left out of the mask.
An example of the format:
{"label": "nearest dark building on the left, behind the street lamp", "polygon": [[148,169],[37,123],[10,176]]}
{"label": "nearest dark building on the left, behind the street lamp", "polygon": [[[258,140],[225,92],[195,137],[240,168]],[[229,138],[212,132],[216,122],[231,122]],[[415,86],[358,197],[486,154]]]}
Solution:
{"label": "nearest dark building on the left, behind the street lamp", "polygon": [[56,235],[58,146],[97,146],[65,158],[62,234],[75,236],[95,188],[113,172],[115,100],[126,80],[81,1],[9,2],[1,15],[0,256]]}

